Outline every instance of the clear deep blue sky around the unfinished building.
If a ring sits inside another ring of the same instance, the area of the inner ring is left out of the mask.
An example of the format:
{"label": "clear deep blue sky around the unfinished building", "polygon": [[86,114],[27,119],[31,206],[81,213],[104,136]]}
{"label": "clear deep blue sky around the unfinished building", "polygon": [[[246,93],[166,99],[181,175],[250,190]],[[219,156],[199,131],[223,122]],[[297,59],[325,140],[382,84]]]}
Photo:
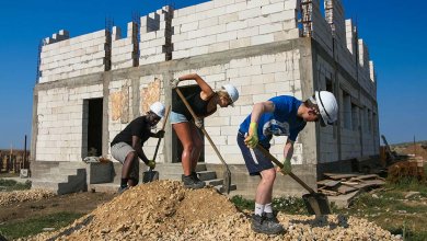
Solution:
{"label": "clear deep blue sky around the unfinished building", "polygon": [[[200,0],[16,0],[0,1],[0,149],[23,148],[32,128],[37,47],[42,38],[65,28],[71,37],[104,28],[105,18],[123,30],[132,12],[141,15],[174,2]],[[346,18],[358,25],[378,74],[380,134],[389,142],[427,140],[427,37],[425,10],[418,1],[343,0]]]}

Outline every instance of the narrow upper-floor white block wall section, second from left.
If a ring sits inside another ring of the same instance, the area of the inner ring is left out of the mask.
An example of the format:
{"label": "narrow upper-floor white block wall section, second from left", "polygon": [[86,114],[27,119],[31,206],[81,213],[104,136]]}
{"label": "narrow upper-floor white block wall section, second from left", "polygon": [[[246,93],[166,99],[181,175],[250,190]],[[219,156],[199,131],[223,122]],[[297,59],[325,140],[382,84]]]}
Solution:
{"label": "narrow upper-floor white block wall section, second from left", "polygon": [[112,70],[135,67],[138,64],[138,25],[127,24],[127,35],[122,38],[122,31],[114,26],[112,33]]}

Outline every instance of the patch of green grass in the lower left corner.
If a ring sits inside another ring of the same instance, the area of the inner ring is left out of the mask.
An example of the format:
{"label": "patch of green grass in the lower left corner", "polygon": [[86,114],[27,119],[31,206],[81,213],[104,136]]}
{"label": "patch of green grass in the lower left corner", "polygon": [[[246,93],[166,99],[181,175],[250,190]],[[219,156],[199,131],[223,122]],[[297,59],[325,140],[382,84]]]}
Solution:
{"label": "patch of green grass in the lower left corner", "polygon": [[82,214],[74,213],[57,213],[39,218],[12,221],[0,225],[0,233],[8,240],[34,236],[43,232],[44,228],[55,228],[55,230],[58,230],[82,216]]}

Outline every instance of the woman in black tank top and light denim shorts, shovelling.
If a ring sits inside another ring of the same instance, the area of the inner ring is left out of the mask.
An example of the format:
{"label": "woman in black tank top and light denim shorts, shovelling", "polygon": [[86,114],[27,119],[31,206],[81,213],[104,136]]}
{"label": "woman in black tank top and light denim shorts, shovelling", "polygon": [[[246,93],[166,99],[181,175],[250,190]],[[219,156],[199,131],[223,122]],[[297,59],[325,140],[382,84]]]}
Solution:
{"label": "woman in black tank top and light denim shorts, shovelling", "polygon": [[171,124],[184,148],[181,159],[184,170],[184,186],[187,188],[201,188],[206,184],[198,179],[195,171],[203,148],[203,140],[197,131],[197,127],[201,127],[203,118],[217,111],[217,105],[220,107],[233,105],[239,99],[239,91],[232,84],[224,84],[219,91],[215,92],[197,73],[185,74],[173,80],[171,83],[172,89],[177,88],[178,82],[182,80],[195,80],[201,89],[200,92],[185,96],[198,118],[192,120],[192,114],[184,102],[178,99],[172,106]]}

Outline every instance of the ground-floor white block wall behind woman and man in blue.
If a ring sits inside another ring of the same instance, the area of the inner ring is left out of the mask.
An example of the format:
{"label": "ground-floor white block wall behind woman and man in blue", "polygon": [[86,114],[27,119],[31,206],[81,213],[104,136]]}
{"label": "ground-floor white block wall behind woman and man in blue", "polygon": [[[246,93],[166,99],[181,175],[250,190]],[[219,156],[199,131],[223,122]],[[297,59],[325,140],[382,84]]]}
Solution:
{"label": "ground-floor white block wall behind woman and man in blue", "polygon": [[[276,95],[302,96],[300,78],[300,51],[298,49],[274,55],[258,55],[249,58],[232,59],[231,61],[189,69],[174,73],[174,78],[188,72],[197,72],[212,88],[219,90],[230,82],[239,90],[240,97],[234,107],[219,108],[205,119],[205,127],[223,158],[231,164],[242,164],[243,158],[236,144],[240,124],[252,112],[255,103],[266,101]],[[194,81],[183,81],[181,84],[194,84]],[[275,137],[272,141],[272,153],[278,159],[282,156],[284,137]],[[208,140],[205,140],[205,161],[220,163]],[[297,140],[292,162],[303,164],[303,147]]]}

